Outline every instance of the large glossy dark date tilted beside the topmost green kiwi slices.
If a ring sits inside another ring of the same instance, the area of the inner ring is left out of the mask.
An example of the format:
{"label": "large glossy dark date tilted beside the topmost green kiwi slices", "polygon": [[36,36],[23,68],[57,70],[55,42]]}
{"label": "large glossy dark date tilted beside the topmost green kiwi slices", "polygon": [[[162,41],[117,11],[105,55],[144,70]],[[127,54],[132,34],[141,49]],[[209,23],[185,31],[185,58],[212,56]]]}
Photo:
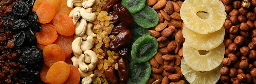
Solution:
{"label": "large glossy dark date tilted beside the topmost green kiwi slices", "polygon": [[133,18],[129,10],[120,3],[114,5],[114,11],[119,16],[119,20],[125,25],[129,26],[133,23]]}

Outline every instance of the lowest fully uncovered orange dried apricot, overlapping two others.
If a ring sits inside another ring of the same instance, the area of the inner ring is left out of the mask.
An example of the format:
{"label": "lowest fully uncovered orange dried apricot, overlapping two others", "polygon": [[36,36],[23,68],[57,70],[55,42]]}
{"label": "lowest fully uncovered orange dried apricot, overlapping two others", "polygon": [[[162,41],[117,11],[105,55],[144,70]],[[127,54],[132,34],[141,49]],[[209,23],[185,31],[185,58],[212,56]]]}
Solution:
{"label": "lowest fully uncovered orange dried apricot, overlapping two others", "polygon": [[69,77],[70,68],[64,61],[54,63],[47,72],[46,79],[51,84],[62,84]]}

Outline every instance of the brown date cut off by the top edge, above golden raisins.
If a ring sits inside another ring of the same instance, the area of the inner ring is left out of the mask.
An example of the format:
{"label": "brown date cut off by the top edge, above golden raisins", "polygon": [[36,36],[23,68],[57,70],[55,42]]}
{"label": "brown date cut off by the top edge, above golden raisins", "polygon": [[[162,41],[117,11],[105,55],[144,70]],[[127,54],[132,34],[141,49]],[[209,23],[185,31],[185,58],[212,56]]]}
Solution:
{"label": "brown date cut off by the top edge, above golden raisins", "polygon": [[121,3],[122,0],[107,0],[101,8],[101,11],[111,12],[113,6],[117,3]]}

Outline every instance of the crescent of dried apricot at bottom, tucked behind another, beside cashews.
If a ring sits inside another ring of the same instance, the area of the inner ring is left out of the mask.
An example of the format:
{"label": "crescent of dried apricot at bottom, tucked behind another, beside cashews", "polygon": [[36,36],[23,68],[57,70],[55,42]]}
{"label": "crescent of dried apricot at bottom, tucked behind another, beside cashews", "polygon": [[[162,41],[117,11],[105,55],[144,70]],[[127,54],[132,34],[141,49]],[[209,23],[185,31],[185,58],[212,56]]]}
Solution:
{"label": "crescent of dried apricot at bottom, tucked behind another, beside cashews", "polygon": [[76,68],[76,66],[72,64],[67,64],[67,65],[69,65],[69,68],[70,68],[69,77],[63,84],[78,84],[80,81],[79,70]]}

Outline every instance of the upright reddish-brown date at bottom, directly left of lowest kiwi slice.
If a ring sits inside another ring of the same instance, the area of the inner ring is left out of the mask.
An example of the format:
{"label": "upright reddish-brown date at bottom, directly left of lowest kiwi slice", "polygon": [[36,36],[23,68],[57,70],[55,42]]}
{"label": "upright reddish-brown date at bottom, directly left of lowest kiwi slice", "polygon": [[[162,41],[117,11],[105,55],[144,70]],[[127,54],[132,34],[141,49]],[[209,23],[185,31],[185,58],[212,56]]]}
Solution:
{"label": "upright reddish-brown date at bottom, directly left of lowest kiwi slice", "polygon": [[128,72],[129,72],[129,67],[128,67],[128,61],[124,57],[120,57],[118,60],[118,74],[119,74],[119,81],[122,83],[126,83],[128,79]]}

